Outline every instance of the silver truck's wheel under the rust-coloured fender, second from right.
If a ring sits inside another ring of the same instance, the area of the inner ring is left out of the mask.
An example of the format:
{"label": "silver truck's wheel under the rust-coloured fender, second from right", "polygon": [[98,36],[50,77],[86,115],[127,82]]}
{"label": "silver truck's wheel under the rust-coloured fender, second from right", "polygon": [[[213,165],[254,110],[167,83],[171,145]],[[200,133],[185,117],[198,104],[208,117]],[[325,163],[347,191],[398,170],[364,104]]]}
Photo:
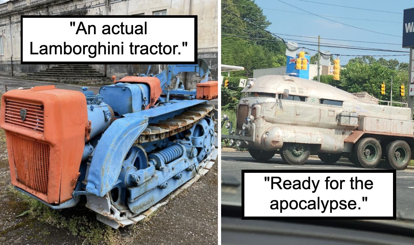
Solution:
{"label": "silver truck's wheel under the rust-coloured fender, second from right", "polygon": [[381,144],[375,138],[363,138],[356,142],[356,157],[365,168],[375,168],[380,163]]}

